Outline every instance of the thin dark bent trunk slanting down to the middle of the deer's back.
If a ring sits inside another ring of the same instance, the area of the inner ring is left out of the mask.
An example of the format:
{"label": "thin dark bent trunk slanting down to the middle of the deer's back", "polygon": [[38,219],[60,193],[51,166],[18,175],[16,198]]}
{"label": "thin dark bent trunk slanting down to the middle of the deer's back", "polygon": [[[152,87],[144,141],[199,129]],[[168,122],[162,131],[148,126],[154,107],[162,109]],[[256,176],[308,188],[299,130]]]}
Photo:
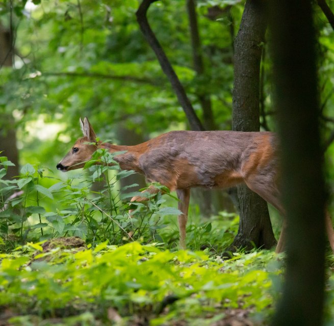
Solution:
{"label": "thin dark bent trunk slanting down to the middle of the deer's back", "polygon": [[171,86],[177,96],[177,99],[181,106],[183,107],[183,110],[187,116],[187,119],[189,121],[190,127],[192,130],[204,130],[201,122],[199,121],[198,117],[196,116],[196,113],[194,111],[194,108],[192,107],[189,98],[187,97],[187,94],[179,81],[173,67],[171,66],[163,48],[161,47],[158,39],[156,38],[155,34],[153,33],[152,29],[150,28],[150,25],[147,21],[146,13],[149,8],[149,6],[158,0],[143,0],[141,5],[139,6],[136,16],[137,21],[140,26],[140,29],[152,48],[153,51],[155,51],[156,56],[158,58],[158,61],[160,63],[160,66],[163,70],[163,72],[166,74],[166,76],[169,79],[169,82],[171,83]]}

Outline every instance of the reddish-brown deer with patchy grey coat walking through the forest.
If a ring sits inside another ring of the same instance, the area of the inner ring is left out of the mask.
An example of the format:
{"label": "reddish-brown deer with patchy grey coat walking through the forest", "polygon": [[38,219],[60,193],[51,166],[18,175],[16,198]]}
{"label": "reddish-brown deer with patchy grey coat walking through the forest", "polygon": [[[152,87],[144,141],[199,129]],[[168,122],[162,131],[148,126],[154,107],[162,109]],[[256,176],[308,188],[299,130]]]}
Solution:
{"label": "reddish-brown deer with patchy grey coat walking through the forest", "polygon": [[[279,142],[270,131],[187,131],[163,133],[147,142],[134,145],[114,145],[96,140],[96,134],[87,118],[80,118],[83,137],[79,138],[57,165],[67,172],[80,169],[97,149],[110,153],[122,170],[143,174],[147,182],[159,182],[170,191],[176,191],[178,209],[179,244],[186,249],[186,225],[190,189],[229,188],[246,184],[278,212],[285,216],[279,192]],[[159,192],[150,185],[143,192]],[[146,201],[147,196],[135,196],[131,202]],[[334,253],[334,229],[326,211],[325,225]],[[284,250],[286,221],[284,220],[276,252]]]}

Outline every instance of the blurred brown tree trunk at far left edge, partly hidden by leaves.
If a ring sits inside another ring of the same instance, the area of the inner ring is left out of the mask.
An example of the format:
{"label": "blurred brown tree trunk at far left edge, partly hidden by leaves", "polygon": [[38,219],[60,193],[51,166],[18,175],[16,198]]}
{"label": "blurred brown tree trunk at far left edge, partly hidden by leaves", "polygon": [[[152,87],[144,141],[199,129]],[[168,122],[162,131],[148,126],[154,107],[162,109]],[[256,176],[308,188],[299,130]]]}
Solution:
{"label": "blurred brown tree trunk at far left edge, partly hidden by leaves", "polygon": [[[1,67],[12,67],[13,65],[13,44],[12,34],[0,25],[0,65]],[[1,69],[1,68],[0,68]],[[18,150],[16,146],[16,130],[14,118],[11,114],[4,114],[0,123],[0,154],[7,156],[15,167],[8,167],[6,177],[11,179],[19,174]]]}

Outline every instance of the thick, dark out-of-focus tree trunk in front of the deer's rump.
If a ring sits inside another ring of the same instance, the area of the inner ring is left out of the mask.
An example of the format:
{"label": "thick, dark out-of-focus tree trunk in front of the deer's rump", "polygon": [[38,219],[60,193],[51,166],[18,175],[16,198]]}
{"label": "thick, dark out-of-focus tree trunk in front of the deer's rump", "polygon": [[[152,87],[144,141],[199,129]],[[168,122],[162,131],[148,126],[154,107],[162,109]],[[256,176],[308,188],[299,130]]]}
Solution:
{"label": "thick, dark out-of-focus tree trunk in front of the deer's rump", "polygon": [[272,0],[275,102],[287,211],[287,268],[273,325],[322,324],[325,190],[312,3]]}

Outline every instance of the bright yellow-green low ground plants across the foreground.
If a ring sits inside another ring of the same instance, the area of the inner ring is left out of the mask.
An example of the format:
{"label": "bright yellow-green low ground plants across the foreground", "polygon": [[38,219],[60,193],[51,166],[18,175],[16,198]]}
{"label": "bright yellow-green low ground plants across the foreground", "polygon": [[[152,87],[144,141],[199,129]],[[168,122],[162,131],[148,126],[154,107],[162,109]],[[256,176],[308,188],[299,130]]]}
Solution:
{"label": "bright yellow-green low ground plants across the foreground", "polygon": [[63,241],[0,256],[0,316],[8,324],[214,325],[244,311],[262,325],[280,288],[281,260],[269,251],[222,261],[139,242],[66,249],[73,238]]}

